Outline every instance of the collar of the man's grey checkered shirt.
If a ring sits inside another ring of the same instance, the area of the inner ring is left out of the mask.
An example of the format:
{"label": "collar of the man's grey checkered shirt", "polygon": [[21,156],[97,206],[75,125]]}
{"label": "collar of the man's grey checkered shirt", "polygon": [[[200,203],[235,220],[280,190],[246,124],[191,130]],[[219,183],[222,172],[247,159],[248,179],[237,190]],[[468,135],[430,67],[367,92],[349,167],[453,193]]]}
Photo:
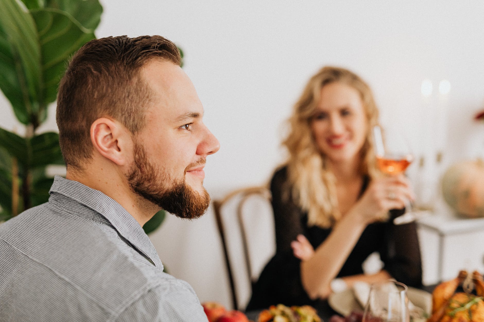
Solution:
{"label": "collar of the man's grey checkered shirt", "polygon": [[139,223],[118,202],[99,190],[80,182],[55,176],[49,193],[58,193],[85,205],[106,218],[133,247],[144,254],[156,268],[163,270],[158,253]]}

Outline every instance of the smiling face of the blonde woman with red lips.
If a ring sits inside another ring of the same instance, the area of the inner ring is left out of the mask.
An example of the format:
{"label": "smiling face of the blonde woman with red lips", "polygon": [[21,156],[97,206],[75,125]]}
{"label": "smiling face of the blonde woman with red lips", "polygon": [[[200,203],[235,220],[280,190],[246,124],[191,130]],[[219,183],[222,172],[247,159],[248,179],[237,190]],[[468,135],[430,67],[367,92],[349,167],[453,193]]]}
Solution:
{"label": "smiling face of the blonde woman with red lips", "polygon": [[319,152],[329,161],[353,161],[360,157],[368,125],[360,93],[355,88],[339,82],[321,88],[310,125]]}

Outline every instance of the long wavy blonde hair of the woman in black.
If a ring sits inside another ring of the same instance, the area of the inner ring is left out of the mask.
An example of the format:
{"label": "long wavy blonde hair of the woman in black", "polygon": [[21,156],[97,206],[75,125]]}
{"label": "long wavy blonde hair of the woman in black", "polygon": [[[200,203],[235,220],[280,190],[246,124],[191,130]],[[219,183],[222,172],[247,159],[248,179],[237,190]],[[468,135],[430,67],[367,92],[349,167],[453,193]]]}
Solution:
{"label": "long wavy blonde hair of the woman in black", "polygon": [[[316,146],[311,132],[311,118],[323,86],[339,82],[358,90],[368,122],[368,133],[362,147],[361,173],[377,176],[375,154],[371,144],[371,127],[378,124],[378,108],[370,87],[358,75],[344,68],[326,66],[311,77],[289,117],[289,133],[282,145],[287,147],[287,173],[290,193],[308,212],[308,225],[331,227],[341,218],[336,198],[335,178],[327,167],[325,156]],[[287,196],[288,198],[289,196]]]}

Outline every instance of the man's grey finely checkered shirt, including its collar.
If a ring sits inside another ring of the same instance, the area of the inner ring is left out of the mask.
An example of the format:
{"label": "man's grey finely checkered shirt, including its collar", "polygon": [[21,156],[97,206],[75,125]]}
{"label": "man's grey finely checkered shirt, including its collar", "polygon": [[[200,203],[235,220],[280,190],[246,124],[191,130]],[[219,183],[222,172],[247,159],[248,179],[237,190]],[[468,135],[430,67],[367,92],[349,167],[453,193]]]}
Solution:
{"label": "man's grey finely checkered shirt, including its collar", "polygon": [[0,321],[207,318],[120,204],[57,176],[47,203],[0,225]]}

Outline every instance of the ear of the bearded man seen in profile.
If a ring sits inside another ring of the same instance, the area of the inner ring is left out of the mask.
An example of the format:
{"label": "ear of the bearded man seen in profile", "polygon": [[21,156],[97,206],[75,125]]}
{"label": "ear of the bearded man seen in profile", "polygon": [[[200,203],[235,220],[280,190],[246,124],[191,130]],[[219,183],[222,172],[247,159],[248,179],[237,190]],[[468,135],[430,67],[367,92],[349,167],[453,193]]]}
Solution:
{"label": "ear of the bearded man seen in profile", "polygon": [[99,154],[117,165],[130,162],[132,139],[128,129],[120,122],[106,117],[96,119],[91,124],[91,142]]}

